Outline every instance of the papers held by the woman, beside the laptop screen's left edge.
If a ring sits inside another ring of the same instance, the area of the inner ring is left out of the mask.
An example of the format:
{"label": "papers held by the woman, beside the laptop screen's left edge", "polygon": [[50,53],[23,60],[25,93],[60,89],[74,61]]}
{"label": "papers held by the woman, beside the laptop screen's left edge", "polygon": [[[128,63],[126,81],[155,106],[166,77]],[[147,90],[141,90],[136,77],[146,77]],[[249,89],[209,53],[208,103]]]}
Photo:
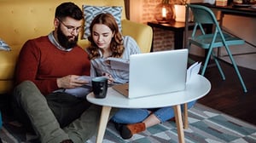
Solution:
{"label": "papers held by the woman, beside the laptop screen's left edge", "polygon": [[129,60],[109,57],[105,61],[109,61],[108,63],[110,64],[112,69],[129,71]]}

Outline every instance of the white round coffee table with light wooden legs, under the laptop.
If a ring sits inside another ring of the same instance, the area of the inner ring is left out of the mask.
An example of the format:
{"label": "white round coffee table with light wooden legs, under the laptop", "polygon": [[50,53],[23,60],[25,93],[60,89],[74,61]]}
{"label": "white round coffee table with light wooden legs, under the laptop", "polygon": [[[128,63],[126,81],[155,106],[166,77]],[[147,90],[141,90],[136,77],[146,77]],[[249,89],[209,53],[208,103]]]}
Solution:
{"label": "white round coffee table with light wooden legs, under the laptop", "polygon": [[[96,99],[93,93],[87,95],[86,99],[93,104],[102,106],[102,115],[99,123],[99,129],[96,142],[102,142],[105,129],[108,123],[109,113],[112,107],[117,108],[157,108],[164,106],[173,106],[177,124],[177,134],[179,142],[184,142],[183,119],[180,105],[198,100],[206,95],[211,89],[211,83],[206,77],[195,75],[186,83],[186,89],[183,91],[158,94],[137,99],[128,99],[119,94],[112,88],[108,88],[108,94],[104,99]],[[187,110],[184,110],[187,113]],[[184,117],[186,119],[186,116]],[[185,124],[187,121],[185,121]],[[186,126],[186,125],[185,125]]]}

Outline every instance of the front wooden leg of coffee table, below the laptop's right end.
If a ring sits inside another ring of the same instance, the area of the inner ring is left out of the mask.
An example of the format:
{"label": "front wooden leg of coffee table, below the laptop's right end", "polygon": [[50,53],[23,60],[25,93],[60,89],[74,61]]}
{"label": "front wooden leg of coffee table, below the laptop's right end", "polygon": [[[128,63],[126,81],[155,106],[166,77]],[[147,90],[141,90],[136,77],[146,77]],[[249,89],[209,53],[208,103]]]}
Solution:
{"label": "front wooden leg of coffee table, below the laptop's right end", "polygon": [[175,114],[175,121],[177,126],[177,136],[178,136],[178,142],[184,143],[184,131],[183,131],[183,118],[182,118],[182,112],[180,109],[180,105],[173,106],[174,114]]}

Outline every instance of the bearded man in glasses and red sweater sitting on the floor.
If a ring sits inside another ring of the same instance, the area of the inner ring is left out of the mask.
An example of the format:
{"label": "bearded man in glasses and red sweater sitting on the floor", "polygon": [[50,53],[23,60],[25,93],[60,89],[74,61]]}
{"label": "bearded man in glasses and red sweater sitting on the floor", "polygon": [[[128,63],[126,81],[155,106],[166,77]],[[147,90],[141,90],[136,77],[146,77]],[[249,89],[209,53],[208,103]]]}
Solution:
{"label": "bearded man in glasses and red sweater sitting on the floor", "polygon": [[65,92],[89,83],[79,79],[90,76],[88,55],[77,45],[82,23],[77,5],[61,3],[55,9],[55,30],[28,40],[20,50],[12,106],[40,142],[82,143],[96,133],[100,107]]}

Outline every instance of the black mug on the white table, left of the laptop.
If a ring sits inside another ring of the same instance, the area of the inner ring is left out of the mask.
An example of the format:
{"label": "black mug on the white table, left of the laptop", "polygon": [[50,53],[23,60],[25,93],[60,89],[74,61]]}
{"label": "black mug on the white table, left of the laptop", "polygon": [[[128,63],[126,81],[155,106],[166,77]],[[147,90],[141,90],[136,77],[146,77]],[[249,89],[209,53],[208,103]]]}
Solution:
{"label": "black mug on the white table, left of the laptop", "polygon": [[92,91],[95,98],[105,98],[108,92],[108,78],[94,77],[91,79]]}

